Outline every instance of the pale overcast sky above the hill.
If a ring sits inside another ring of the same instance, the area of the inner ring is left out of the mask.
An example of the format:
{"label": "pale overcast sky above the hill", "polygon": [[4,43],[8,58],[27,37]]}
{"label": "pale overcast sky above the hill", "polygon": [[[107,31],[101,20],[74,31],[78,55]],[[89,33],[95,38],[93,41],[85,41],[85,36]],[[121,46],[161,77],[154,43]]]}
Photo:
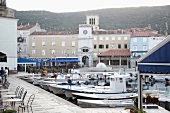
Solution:
{"label": "pale overcast sky above the hill", "polygon": [[77,12],[102,8],[164,6],[170,0],[6,0],[7,7],[17,11],[46,10]]}

